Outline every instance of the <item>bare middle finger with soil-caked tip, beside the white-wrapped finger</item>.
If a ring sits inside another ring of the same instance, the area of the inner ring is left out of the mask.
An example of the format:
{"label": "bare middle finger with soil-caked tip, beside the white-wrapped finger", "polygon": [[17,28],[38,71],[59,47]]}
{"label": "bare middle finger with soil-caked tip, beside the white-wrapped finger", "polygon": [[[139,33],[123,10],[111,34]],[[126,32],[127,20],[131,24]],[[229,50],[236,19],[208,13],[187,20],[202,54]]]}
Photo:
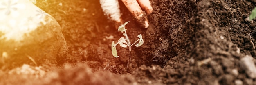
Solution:
{"label": "bare middle finger with soil-caked tip, beside the white-wrapped finger", "polygon": [[148,19],[146,13],[142,11],[138,2],[136,0],[122,0],[127,9],[132,13],[132,15],[137,19],[137,21],[144,26],[144,28],[148,28]]}

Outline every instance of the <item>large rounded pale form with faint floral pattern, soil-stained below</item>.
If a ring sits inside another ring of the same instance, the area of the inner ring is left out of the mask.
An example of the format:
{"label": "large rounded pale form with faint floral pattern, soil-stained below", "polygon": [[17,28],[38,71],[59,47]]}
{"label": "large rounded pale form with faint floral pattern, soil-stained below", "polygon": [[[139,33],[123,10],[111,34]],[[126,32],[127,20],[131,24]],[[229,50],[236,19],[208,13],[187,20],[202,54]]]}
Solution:
{"label": "large rounded pale form with faint floral pattern, soil-stained below", "polygon": [[66,41],[52,16],[29,0],[1,0],[0,3],[11,3],[15,9],[0,10],[0,68],[65,61]]}

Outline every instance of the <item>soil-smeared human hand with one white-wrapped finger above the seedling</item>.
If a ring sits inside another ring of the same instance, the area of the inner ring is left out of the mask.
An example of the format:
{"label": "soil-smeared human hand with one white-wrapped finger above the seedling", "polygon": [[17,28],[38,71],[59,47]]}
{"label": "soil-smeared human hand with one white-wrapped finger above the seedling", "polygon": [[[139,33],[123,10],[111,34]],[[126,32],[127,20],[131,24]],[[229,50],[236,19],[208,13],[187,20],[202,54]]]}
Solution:
{"label": "soil-smeared human hand with one white-wrapped finger above the seedling", "polygon": [[[122,0],[122,2],[132,13],[137,22],[144,28],[148,28],[149,24],[146,15],[151,14],[153,11],[149,0]],[[121,24],[123,23],[117,0],[100,0],[100,3],[103,12],[110,20]]]}

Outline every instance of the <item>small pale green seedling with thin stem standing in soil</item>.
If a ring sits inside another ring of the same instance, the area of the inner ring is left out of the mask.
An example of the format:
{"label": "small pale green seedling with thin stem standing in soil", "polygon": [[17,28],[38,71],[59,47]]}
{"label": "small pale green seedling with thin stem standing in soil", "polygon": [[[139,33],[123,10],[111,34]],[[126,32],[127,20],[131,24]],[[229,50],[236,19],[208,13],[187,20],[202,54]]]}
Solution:
{"label": "small pale green seedling with thin stem standing in soil", "polygon": [[137,44],[135,45],[136,47],[141,46],[141,45],[143,44],[143,42],[144,42],[143,39],[142,39],[142,35],[139,34],[139,35],[138,35],[139,39],[138,39],[137,41],[135,41],[133,44],[130,43],[130,40],[129,40],[129,38],[128,38],[128,36],[127,36],[127,33],[126,33],[126,30],[127,30],[127,29],[125,28],[125,25],[128,24],[129,22],[130,22],[130,21],[125,22],[123,25],[119,26],[119,27],[118,27],[118,30],[117,30],[117,32],[118,32],[118,31],[122,32],[125,37],[121,37],[121,38],[118,40],[118,42],[117,42],[116,44],[115,44],[114,41],[113,41],[113,42],[112,42],[112,45],[111,45],[112,54],[113,54],[113,56],[116,57],[116,58],[119,57],[119,56],[117,55],[117,48],[116,48],[117,44],[119,44],[121,47],[124,47],[124,48],[126,48],[127,46],[129,47],[129,60],[128,60],[127,66],[126,66],[127,69],[128,69],[128,65],[129,65],[129,63],[130,63],[130,61],[131,61],[131,57],[130,57],[130,55],[131,55],[131,47],[132,47],[137,41],[139,41],[139,43],[137,43]]}

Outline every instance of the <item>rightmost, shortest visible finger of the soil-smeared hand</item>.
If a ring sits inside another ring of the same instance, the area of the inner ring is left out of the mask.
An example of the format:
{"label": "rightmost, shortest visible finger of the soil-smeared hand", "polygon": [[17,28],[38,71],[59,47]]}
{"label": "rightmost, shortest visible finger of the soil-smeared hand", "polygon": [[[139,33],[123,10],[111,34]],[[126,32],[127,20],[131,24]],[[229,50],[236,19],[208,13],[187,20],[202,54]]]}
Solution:
{"label": "rightmost, shortest visible finger of the soil-smeared hand", "polygon": [[149,0],[137,0],[137,2],[139,3],[141,9],[143,9],[147,13],[147,15],[153,12],[153,8]]}

